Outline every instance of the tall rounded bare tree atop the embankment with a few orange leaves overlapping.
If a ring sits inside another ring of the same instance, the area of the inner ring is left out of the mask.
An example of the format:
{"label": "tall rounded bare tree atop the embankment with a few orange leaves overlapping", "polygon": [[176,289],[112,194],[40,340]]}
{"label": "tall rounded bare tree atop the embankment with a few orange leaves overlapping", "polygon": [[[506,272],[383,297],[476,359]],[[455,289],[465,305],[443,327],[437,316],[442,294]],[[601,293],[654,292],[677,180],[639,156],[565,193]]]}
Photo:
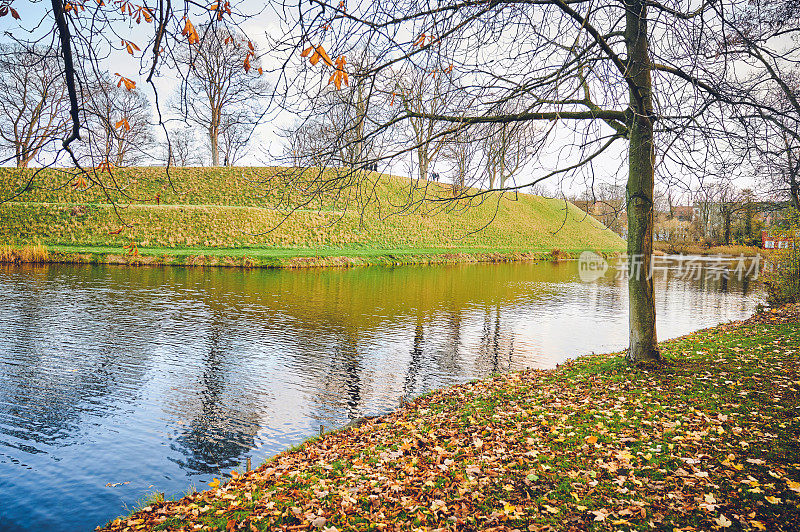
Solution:
{"label": "tall rounded bare tree atop the embankment with a few orange leaves overlapping", "polygon": [[255,46],[241,31],[206,24],[199,28],[198,39],[175,55],[179,66],[187,69],[178,108],[187,121],[207,132],[211,164],[219,166],[220,136],[233,128],[227,132],[227,155],[241,151],[241,143],[263,115],[262,99],[268,88]]}

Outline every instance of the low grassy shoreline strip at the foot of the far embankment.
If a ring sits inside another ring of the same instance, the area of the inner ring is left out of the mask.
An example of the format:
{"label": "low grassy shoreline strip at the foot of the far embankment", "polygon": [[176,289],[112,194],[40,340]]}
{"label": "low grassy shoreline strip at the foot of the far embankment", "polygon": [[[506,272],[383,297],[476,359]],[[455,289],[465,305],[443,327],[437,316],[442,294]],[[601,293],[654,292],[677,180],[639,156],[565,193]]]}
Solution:
{"label": "low grassy shoreline strip at the foot of the far embankment", "polygon": [[[71,249],[70,249],[71,248]],[[122,266],[202,266],[219,268],[348,268],[357,266],[439,265],[576,260],[583,250],[476,249],[181,249],[119,247],[0,246],[0,264],[109,264]],[[613,257],[617,250],[595,251]]]}

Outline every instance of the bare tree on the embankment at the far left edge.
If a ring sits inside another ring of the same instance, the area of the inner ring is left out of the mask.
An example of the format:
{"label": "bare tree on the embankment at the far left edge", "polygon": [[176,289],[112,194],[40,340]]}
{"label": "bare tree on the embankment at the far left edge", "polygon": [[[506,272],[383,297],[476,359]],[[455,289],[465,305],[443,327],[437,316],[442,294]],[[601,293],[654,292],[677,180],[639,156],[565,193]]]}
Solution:
{"label": "bare tree on the embankment at the far left edge", "polygon": [[69,115],[61,65],[44,47],[0,48],[0,140],[24,168],[66,131]]}

